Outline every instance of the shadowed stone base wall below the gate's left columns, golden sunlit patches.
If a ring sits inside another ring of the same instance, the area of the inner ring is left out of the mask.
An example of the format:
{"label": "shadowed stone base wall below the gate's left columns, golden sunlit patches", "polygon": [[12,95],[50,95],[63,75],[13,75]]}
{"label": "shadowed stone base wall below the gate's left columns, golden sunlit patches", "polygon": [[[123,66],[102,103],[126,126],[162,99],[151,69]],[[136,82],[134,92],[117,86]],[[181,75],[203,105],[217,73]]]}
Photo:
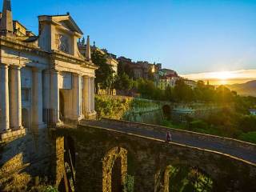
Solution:
{"label": "shadowed stone base wall below the gate's left columns, golden sunlit patches", "polygon": [[47,129],[0,144],[0,191],[26,191],[50,182],[54,157]]}

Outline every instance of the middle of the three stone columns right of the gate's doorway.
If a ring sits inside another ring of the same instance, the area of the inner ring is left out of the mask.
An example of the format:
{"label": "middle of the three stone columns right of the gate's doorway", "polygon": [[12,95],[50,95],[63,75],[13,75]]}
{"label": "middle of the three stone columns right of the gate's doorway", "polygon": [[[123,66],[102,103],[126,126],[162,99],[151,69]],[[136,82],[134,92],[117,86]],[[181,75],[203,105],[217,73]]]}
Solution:
{"label": "middle of the three stone columns right of the gate's doorway", "polygon": [[90,77],[83,77],[83,105],[84,115],[90,114]]}

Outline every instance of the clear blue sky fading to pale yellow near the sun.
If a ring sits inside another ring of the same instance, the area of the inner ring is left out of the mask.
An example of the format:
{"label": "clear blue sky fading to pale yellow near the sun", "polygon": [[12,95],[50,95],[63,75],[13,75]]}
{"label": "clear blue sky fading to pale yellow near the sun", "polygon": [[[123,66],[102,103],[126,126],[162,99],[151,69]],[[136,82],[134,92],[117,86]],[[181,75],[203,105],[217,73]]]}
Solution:
{"label": "clear blue sky fading to pale yellow near the sun", "polygon": [[198,74],[197,78],[202,73],[248,70],[256,78],[256,0],[11,3],[14,19],[36,34],[38,15],[70,12],[96,46],[118,56],[161,62],[178,74]]}

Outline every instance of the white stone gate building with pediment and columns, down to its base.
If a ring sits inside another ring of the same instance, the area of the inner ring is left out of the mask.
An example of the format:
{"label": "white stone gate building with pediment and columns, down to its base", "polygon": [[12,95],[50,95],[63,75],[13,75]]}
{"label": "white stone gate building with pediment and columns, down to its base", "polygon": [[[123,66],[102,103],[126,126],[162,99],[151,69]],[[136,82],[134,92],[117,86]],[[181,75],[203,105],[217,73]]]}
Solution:
{"label": "white stone gate building with pediment and columns, down to its base", "polygon": [[[40,15],[38,22],[35,36],[13,21],[10,0],[4,0],[0,23],[0,173],[6,178],[0,179],[1,191],[23,191],[6,190],[5,185],[26,189],[34,177],[53,178],[57,162],[52,161],[60,146],[51,138],[50,129],[96,116],[94,71],[98,67],[91,62],[90,50],[85,56],[78,51],[82,30],[70,14]],[[58,186],[63,174],[55,174],[55,181],[50,182]]]}

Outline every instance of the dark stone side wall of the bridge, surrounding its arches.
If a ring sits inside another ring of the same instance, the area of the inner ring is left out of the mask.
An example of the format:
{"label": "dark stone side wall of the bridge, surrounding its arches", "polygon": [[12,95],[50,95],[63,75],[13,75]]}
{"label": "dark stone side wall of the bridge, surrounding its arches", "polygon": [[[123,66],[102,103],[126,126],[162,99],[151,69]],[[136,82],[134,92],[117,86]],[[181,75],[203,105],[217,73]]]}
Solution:
{"label": "dark stone side wall of the bridge, surrounding its arches", "polygon": [[226,154],[92,126],[58,129],[56,134],[75,141],[77,191],[105,191],[102,159],[115,147],[133,159],[134,191],[166,189],[168,179],[159,173],[175,165],[200,168],[213,179],[214,191],[256,191],[256,165]]}

